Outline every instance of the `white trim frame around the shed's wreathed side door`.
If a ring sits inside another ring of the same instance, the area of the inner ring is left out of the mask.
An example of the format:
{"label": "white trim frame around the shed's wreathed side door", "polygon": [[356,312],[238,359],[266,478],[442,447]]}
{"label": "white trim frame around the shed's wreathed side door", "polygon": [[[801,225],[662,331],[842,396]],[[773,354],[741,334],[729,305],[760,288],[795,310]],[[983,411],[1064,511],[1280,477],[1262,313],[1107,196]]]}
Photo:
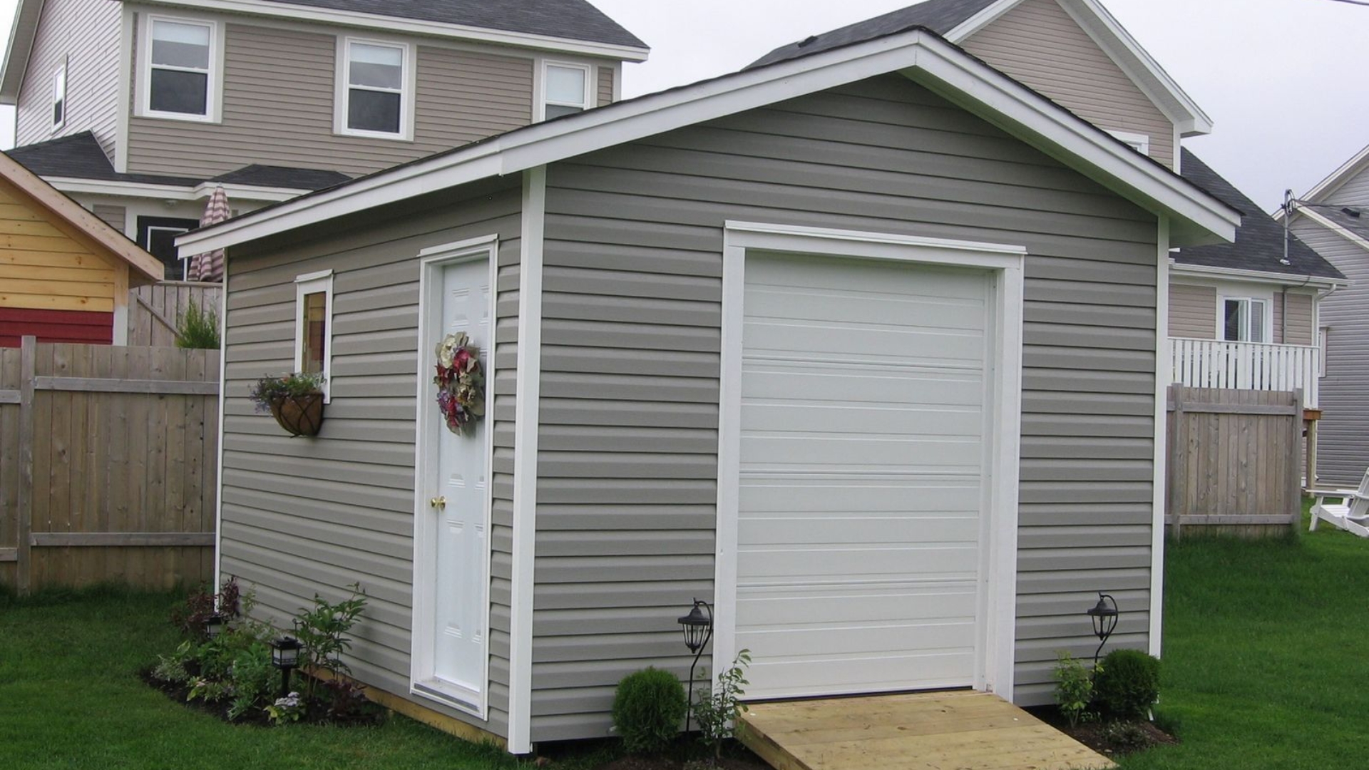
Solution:
{"label": "white trim frame around the shed's wreathed side door", "polygon": [[[482,604],[485,607],[485,671],[481,675],[481,692],[472,693],[456,688],[434,686],[426,684],[431,680],[434,667],[433,649],[433,601],[434,575],[437,573],[437,519],[428,507],[428,499],[435,496],[433,481],[437,480],[435,448],[427,447],[433,441],[434,432],[442,430],[434,400],[428,397],[428,360],[431,358],[427,336],[434,327],[441,327],[442,314],[442,278],[441,270],[459,262],[486,259],[489,262],[490,281],[490,344],[487,345],[487,360],[494,367],[494,312],[498,292],[498,237],[483,236],[438,247],[419,252],[419,351],[418,351],[418,415],[416,434],[413,443],[413,625],[409,633],[409,693],[418,697],[434,700],[450,708],[464,711],[486,719],[489,715],[490,696],[490,551],[485,549],[485,578],[482,589]],[[494,378],[487,375],[486,389]],[[494,467],[494,426],[487,425],[485,430],[485,463],[489,474]],[[490,532],[490,517],[493,511],[493,484],[486,484],[485,495],[485,532]]]}

